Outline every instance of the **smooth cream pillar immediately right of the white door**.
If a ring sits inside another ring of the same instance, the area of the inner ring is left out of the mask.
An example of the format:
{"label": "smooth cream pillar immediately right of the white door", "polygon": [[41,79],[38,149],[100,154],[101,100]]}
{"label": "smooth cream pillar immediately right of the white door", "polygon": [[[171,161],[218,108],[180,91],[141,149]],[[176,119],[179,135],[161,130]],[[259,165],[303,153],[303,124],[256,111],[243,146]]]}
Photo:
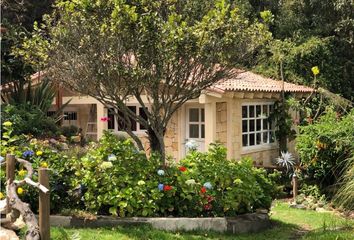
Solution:
{"label": "smooth cream pillar immediately right of the white door", "polygon": [[205,109],[205,151],[216,140],[216,102],[207,102]]}

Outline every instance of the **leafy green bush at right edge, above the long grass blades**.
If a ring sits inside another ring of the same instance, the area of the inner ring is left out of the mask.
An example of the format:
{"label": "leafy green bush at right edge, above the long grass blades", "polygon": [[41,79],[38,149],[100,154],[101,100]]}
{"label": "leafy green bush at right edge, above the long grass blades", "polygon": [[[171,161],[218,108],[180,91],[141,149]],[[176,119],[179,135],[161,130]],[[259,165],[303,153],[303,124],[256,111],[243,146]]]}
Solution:
{"label": "leafy green bush at right edge, above the long grass blades", "polygon": [[338,183],[353,144],[354,110],[341,117],[327,108],[316,122],[300,127],[296,148],[307,174],[323,189]]}

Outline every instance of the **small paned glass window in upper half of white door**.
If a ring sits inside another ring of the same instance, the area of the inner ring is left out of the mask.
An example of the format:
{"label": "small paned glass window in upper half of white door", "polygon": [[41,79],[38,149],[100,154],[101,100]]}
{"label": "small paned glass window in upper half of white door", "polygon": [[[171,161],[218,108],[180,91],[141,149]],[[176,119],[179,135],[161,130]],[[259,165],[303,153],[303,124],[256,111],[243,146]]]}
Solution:
{"label": "small paned glass window in upper half of white door", "polygon": [[188,109],[188,138],[205,138],[204,108]]}

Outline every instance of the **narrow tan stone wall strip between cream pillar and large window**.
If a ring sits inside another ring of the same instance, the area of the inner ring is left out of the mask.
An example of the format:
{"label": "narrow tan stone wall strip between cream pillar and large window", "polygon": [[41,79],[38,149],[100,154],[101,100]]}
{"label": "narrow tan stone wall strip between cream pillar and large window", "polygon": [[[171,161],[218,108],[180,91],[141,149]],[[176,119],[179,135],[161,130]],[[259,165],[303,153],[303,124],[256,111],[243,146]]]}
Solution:
{"label": "narrow tan stone wall strip between cream pillar and large window", "polygon": [[[206,129],[207,130],[207,129]],[[216,103],[216,140],[227,147],[227,104]]]}

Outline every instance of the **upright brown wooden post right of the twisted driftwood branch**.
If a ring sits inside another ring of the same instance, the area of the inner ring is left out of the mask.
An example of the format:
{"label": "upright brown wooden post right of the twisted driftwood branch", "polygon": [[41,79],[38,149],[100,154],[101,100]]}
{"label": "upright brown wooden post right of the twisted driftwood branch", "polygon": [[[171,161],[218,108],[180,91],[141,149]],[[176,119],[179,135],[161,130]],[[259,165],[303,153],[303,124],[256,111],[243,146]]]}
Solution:
{"label": "upright brown wooden post right of the twisted driftwood branch", "polygon": [[[49,189],[49,169],[39,168],[39,183]],[[50,239],[50,195],[39,192],[39,232],[41,240]]]}

